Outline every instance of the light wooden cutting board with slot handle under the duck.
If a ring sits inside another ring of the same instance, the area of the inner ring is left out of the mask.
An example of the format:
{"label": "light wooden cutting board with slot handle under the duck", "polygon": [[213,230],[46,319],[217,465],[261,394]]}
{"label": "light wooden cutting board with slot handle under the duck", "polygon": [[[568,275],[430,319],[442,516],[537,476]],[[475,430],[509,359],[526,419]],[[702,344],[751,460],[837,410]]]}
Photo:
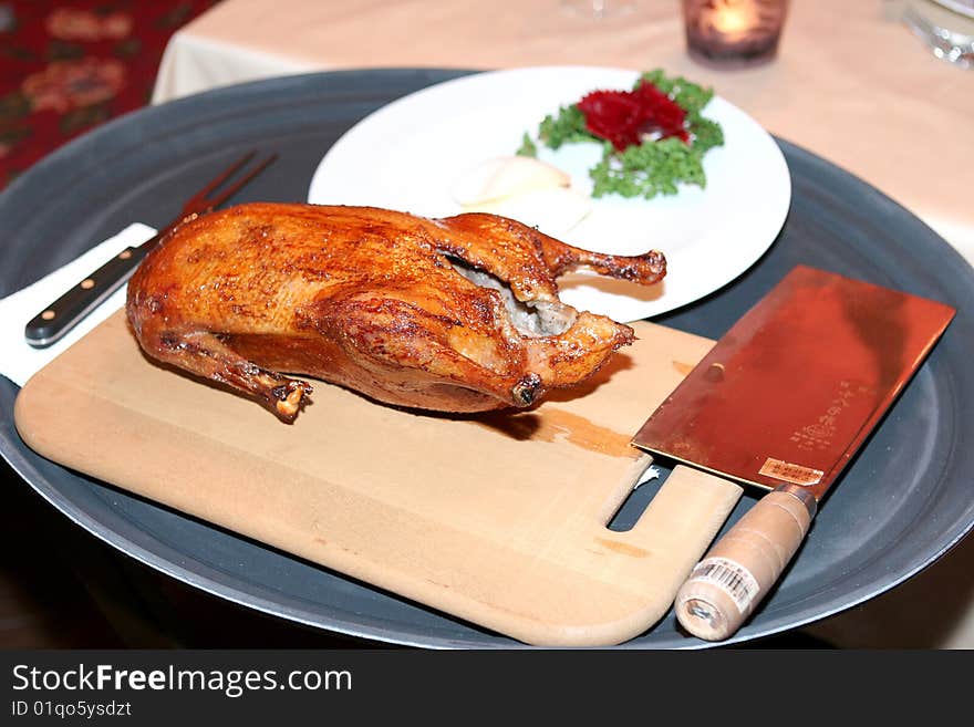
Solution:
{"label": "light wooden cutting board with slot handle under the duck", "polygon": [[583,387],[478,416],[320,384],[293,425],[151,363],[122,311],[34,375],[18,430],[66,467],[515,638],[643,633],[740,496],[677,467],[632,530],[629,445],[712,342],[650,323]]}

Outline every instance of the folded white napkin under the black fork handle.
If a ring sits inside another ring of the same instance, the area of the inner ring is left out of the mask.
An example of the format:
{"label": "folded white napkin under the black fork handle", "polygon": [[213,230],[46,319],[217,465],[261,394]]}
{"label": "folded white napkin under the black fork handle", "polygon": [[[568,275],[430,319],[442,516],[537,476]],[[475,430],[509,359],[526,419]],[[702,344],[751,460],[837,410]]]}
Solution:
{"label": "folded white napkin under the black fork handle", "polygon": [[142,245],[155,233],[156,230],[149,226],[134,222],[73,262],[0,300],[0,374],[18,386],[23,386],[28,378],[72,343],[122,308],[125,303],[125,285],[112,293],[58,343],[46,349],[34,349],[23,337],[23,328],[28,321],[45,305],[58,300],[64,291],[76,285],[125,248]]}

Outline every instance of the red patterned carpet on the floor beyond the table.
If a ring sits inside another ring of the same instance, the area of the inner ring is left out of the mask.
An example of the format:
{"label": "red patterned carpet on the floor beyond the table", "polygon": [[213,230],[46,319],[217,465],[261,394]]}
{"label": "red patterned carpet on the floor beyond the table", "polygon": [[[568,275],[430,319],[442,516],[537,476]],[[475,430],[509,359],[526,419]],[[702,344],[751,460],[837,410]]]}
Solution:
{"label": "red patterned carpet on the floor beyond the table", "polygon": [[0,0],[0,189],[148,103],[163,50],[217,0]]}

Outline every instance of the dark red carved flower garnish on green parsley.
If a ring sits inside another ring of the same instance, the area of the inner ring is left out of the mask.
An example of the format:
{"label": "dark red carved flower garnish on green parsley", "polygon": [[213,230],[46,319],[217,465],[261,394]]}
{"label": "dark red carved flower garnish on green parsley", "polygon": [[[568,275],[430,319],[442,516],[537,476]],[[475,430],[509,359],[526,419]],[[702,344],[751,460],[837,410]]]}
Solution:
{"label": "dark red carved flower garnish on green parsley", "polygon": [[593,91],[578,103],[586,128],[618,150],[641,144],[645,135],[676,136],[690,143],[686,112],[647,81],[633,91]]}

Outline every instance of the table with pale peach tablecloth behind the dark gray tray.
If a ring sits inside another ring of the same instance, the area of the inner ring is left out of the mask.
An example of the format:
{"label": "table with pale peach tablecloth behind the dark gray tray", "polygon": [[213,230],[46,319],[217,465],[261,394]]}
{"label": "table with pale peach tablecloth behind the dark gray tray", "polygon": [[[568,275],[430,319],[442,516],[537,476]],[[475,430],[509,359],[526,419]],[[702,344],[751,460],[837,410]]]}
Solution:
{"label": "table with pale peach tablecloth behind the dark gray tray", "polygon": [[[713,85],[771,133],[882,189],[974,262],[974,205],[956,170],[974,76],[935,58],[894,0],[792,0],[778,58],[715,70],[685,52],[677,2],[595,20],[560,0],[224,0],[172,39],[162,103],[241,81],[352,67],[661,66]],[[974,646],[974,541],[808,631],[850,647]]]}

